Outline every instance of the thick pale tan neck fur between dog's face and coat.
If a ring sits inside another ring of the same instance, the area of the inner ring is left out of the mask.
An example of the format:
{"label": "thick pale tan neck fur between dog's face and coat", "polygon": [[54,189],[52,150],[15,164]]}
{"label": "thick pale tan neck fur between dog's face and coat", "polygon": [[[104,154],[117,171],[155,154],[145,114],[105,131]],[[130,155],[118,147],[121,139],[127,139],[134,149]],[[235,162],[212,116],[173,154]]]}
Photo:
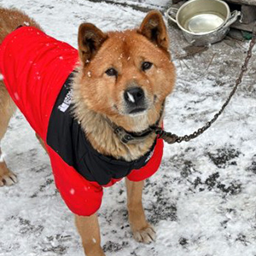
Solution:
{"label": "thick pale tan neck fur between dog's face and coat", "polygon": [[[137,160],[139,157],[146,154],[154,143],[155,135],[151,134],[141,143],[124,144],[121,143],[119,138],[113,133],[112,128],[108,125],[106,117],[102,113],[96,113],[90,110],[80,93],[81,73],[77,73],[73,80],[73,113],[76,119],[78,119],[85,136],[90,141],[93,148],[101,154],[111,155],[115,159],[123,159],[127,161]],[[149,125],[148,119],[137,117],[132,119],[134,124],[134,131],[139,131],[139,126],[145,126],[140,131],[147,129]]]}

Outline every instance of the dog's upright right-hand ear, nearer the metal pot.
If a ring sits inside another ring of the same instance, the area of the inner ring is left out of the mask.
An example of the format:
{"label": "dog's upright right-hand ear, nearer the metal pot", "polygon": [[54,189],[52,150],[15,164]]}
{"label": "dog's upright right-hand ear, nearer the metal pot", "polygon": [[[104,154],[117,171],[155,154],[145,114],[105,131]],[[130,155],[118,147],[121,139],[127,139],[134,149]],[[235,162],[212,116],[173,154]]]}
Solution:
{"label": "dog's upright right-hand ear, nearer the metal pot", "polygon": [[166,24],[159,11],[150,11],[144,18],[139,32],[148,38],[154,44],[163,49],[168,49],[169,38],[166,30]]}

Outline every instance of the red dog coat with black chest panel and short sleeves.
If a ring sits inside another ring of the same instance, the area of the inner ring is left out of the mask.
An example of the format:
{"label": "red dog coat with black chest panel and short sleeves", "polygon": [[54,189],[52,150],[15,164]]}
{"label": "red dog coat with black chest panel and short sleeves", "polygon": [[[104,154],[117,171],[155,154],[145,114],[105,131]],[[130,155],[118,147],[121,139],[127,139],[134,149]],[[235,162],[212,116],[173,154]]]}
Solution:
{"label": "red dog coat with black chest panel and short sleeves", "polygon": [[0,47],[0,72],[9,95],[47,147],[55,184],[69,209],[90,216],[102,203],[102,187],[128,177],[142,181],[160,166],[163,141],[138,160],[96,152],[70,111],[70,75],[78,51],[44,32],[23,26]]}

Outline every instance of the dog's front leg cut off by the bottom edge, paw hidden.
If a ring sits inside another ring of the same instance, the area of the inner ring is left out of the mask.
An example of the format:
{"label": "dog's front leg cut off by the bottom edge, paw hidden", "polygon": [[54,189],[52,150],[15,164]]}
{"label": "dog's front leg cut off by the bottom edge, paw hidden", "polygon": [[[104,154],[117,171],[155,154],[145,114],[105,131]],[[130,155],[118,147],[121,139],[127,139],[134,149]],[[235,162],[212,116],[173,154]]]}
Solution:
{"label": "dog's front leg cut off by the bottom edge, paw hidden", "polygon": [[75,215],[86,256],[105,256],[101,247],[101,234],[97,213],[90,217]]}

